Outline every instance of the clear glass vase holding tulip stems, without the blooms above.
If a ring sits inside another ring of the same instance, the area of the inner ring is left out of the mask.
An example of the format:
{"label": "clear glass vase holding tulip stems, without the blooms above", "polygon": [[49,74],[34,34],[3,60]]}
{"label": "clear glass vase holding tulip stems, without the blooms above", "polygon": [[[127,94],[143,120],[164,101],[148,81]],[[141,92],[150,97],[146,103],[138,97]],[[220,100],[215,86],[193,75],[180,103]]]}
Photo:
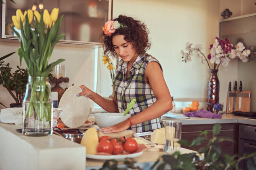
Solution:
{"label": "clear glass vase holding tulip stems, without the blooms above", "polygon": [[28,77],[23,99],[22,133],[28,136],[52,134],[53,101],[48,77]]}

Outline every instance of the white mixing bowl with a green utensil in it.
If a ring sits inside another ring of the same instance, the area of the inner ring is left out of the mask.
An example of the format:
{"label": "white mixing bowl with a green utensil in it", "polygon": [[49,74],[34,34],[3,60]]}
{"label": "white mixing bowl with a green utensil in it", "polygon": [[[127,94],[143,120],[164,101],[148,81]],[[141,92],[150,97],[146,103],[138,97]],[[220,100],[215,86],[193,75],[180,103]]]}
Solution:
{"label": "white mixing bowl with a green utensil in it", "polygon": [[123,116],[123,113],[95,113],[95,121],[100,128],[113,126],[131,117],[130,114]]}

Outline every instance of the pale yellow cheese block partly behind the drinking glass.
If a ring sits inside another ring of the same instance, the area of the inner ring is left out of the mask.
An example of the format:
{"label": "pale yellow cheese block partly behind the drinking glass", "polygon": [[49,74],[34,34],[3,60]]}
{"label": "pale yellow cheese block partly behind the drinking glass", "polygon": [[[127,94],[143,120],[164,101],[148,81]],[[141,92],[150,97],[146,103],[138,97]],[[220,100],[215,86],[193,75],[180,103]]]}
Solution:
{"label": "pale yellow cheese block partly behind the drinking glass", "polygon": [[[166,128],[167,128],[167,132],[169,132],[166,135],[166,138],[169,140],[174,139],[175,128],[170,127],[170,126],[168,126]],[[151,135],[151,142],[165,145],[165,128],[160,128],[160,129],[154,130],[153,134]]]}

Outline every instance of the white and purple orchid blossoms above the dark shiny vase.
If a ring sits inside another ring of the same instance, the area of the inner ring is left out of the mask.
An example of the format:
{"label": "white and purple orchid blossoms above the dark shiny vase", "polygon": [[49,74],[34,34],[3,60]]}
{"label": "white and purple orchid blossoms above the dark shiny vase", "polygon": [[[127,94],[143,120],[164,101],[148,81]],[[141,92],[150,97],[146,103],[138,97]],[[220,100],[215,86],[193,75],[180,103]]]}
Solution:
{"label": "white and purple orchid blossoms above the dark shiny vase", "polygon": [[182,61],[184,62],[191,61],[191,57],[193,55],[200,57],[202,63],[205,63],[205,61],[207,62],[210,70],[211,67],[208,60],[210,63],[214,64],[214,70],[218,70],[220,64],[224,67],[228,66],[229,61],[235,57],[239,57],[243,62],[250,61],[251,51],[246,50],[242,42],[238,42],[236,49],[232,49],[232,47],[233,44],[230,44],[227,37],[225,37],[225,40],[220,40],[218,37],[215,37],[215,43],[210,45],[210,54],[208,54],[207,57],[202,53],[203,48],[201,44],[197,44],[195,47],[192,47],[192,43],[190,42],[187,42],[186,45],[186,50],[188,52],[181,50],[180,53],[182,55]]}

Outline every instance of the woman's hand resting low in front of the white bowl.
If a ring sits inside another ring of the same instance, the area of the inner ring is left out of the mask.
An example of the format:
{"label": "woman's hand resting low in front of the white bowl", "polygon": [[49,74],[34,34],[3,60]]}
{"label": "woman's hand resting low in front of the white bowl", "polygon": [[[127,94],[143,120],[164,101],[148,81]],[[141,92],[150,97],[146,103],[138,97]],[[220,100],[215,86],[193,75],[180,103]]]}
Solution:
{"label": "woman's hand resting low in front of the white bowl", "polygon": [[106,127],[106,128],[101,128],[100,131],[103,133],[117,133],[117,132],[122,132],[124,130],[127,130],[129,127],[130,127],[130,121],[127,119],[116,125]]}

